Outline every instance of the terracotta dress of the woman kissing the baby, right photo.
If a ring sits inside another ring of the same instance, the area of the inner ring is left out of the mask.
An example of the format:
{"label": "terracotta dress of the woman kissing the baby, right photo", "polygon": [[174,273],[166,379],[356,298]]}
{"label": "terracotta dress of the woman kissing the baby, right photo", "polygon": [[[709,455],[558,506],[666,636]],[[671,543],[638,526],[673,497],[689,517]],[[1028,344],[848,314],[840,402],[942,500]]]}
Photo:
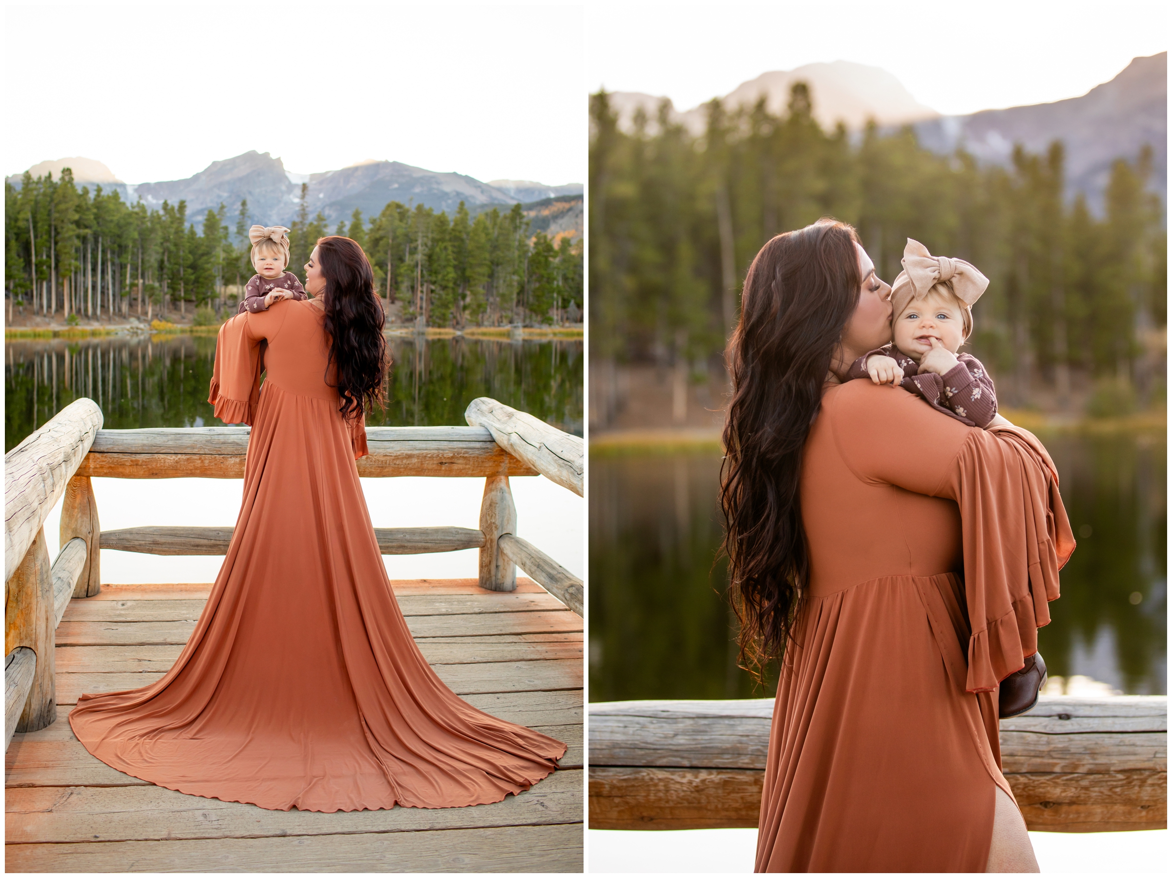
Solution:
{"label": "terracotta dress of the woman kissing the baby, right photo", "polygon": [[981,872],[997,682],[1037,649],[1074,539],[1045,449],[890,386],[806,441],[809,600],[769,741],[757,871]]}

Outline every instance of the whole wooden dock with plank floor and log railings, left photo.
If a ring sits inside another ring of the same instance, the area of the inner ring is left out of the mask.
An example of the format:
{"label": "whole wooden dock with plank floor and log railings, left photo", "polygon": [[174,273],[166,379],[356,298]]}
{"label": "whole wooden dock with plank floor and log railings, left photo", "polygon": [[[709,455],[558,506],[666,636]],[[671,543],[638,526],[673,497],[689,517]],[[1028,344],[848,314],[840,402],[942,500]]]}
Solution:
{"label": "whole wooden dock with plank floor and log railings, left photo", "polygon": [[[471,705],[564,741],[560,770],[503,802],[318,814],[188,796],[74,737],[83,693],[158,680],[210,585],[108,585],[110,549],[224,554],[231,528],[101,531],[91,478],[240,478],[241,427],[103,430],[81,399],[5,455],[6,857],[14,872],[580,872],[582,581],[517,536],[510,476],[584,492],[581,438],[473,400],[468,427],[372,427],[360,476],[482,477],[478,529],[375,529],[382,554],[479,549],[479,576],[394,583],[423,655]],[[45,522],[61,506],[61,551]],[[517,569],[532,579],[517,577]],[[536,583],[534,583],[536,580]],[[538,583],[540,585],[538,585]]]}

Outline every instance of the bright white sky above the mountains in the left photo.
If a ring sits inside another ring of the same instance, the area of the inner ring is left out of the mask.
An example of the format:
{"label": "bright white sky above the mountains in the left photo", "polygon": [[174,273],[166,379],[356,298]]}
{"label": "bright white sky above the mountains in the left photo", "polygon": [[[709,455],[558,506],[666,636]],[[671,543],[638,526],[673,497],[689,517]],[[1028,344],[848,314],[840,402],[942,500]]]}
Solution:
{"label": "bright white sky above the mountains in the left photo", "polygon": [[581,4],[9,2],[4,173],[84,156],[127,183],[248,150],[584,183]]}

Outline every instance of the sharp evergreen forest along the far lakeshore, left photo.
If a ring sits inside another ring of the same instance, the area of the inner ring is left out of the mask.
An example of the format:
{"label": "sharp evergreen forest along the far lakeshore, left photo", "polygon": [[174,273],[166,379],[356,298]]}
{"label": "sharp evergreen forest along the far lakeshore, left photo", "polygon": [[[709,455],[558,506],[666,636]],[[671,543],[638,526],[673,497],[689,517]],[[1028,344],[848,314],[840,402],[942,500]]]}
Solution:
{"label": "sharp evergreen forest along the far lakeshore, left photo", "polygon": [[[454,327],[547,325],[580,320],[581,240],[531,233],[519,204],[472,215],[463,203],[449,218],[429,207],[390,202],[369,220],[355,211],[328,229],[308,216],[306,186],[292,223],[288,270],[304,283],[318,238],[343,234],[366,250],[376,292],[400,306],[403,321]],[[185,202],[148,210],[117,191],[25,173],[5,182],[5,294],[8,319],[20,307],[68,324],[80,319],[195,319],[216,324],[234,314],[254,274],[248,227],[264,218],[241,202],[188,217]]]}

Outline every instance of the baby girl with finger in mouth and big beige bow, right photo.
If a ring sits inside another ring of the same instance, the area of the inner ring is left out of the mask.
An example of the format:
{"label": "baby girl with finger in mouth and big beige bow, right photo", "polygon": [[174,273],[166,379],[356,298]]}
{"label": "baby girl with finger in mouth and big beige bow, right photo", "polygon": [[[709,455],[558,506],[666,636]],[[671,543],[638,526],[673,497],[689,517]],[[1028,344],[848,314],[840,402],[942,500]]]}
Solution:
{"label": "baby girl with finger in mouth and big beige bow, right photo", "polygon": [[993,380],[980,360],[956,350],[973,332],[973,304],[989,279],[911,238],[902,264],[891,291],[892,343],[856,360],[850,377],[899,384],[969,427],[988,427],[997,414]]}

